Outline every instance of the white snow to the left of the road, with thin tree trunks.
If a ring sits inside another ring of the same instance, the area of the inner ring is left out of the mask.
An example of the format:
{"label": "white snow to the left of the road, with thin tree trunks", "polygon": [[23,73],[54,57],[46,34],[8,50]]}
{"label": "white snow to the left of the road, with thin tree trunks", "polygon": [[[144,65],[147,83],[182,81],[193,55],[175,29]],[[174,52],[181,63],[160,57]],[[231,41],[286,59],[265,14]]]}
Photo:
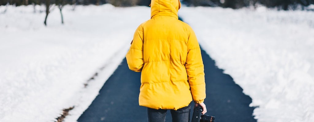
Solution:
{"label": "white snow to the left of the road, with thin tree trunks", "polygon": [[75,121],[124,58],[148,9],[65,6],[65,25],[56,9],[45,27],[45,7],[8,6],[0,14],[0,121],[55,121],[72,106],[67,119]]}

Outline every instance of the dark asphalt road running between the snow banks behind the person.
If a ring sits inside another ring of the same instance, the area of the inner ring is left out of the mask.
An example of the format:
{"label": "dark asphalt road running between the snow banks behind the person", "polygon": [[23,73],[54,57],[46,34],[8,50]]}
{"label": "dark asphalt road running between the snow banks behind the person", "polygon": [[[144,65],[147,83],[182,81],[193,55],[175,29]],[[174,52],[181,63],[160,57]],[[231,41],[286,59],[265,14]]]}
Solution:
{"label": "dark asphalt road running between the snow banks behind the person", "polygon": [[[216,122],[256,122],[252,116],[254,108],[249,107],[252,99],[244,95],[232,77],[218,69],[215,61],[203,50],[202,57],[206,80],[206,115],[215,116]],[[138,105],[140,85],[140,73],[129,70],[124,59],[78,122],[147,122],[146,108]],[[166,122],[171,122],[169,110]]]}

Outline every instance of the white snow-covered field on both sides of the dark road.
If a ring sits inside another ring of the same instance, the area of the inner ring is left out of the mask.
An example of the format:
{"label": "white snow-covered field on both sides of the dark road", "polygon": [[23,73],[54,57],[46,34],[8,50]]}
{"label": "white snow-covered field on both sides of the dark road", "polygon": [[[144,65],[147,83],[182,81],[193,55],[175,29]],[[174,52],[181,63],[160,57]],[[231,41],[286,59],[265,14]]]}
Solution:
{"label": "white snow-covered field on both sides of the dark road", "polygon": [[[0,7],[0,121],[75,121],[128,50],[149,7]],[[258,122],[314,121],[314,12],[182,7],[203,49],[259,106]],[[89,81],[95,72],[95,80]],[[89,85],[84,88],[84,84]]]}

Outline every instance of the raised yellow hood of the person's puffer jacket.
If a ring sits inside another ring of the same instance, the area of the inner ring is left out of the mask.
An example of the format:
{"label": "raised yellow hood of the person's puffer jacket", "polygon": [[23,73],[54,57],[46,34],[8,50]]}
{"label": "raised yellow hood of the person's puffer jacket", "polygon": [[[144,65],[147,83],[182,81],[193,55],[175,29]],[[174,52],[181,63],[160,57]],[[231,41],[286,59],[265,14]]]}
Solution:
{"label": "raised yellow hood of the person's puffer jacket", "polygon": [[151,0],[151,16],[171,16],[178,18],[178,10],[181,7],[180,0]]}

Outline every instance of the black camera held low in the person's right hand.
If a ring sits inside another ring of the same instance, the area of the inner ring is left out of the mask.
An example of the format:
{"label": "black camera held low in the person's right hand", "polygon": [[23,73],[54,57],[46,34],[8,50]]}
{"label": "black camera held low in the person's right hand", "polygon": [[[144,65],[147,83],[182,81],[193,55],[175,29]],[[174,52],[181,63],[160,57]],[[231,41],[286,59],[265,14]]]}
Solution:
{"label": "black camera held low in the person's right hand", "polygon": [[214,122],[215,117],[209,115],[202,115],[203,109],[201,107],[195,107],[193,111],[192,122]]}

